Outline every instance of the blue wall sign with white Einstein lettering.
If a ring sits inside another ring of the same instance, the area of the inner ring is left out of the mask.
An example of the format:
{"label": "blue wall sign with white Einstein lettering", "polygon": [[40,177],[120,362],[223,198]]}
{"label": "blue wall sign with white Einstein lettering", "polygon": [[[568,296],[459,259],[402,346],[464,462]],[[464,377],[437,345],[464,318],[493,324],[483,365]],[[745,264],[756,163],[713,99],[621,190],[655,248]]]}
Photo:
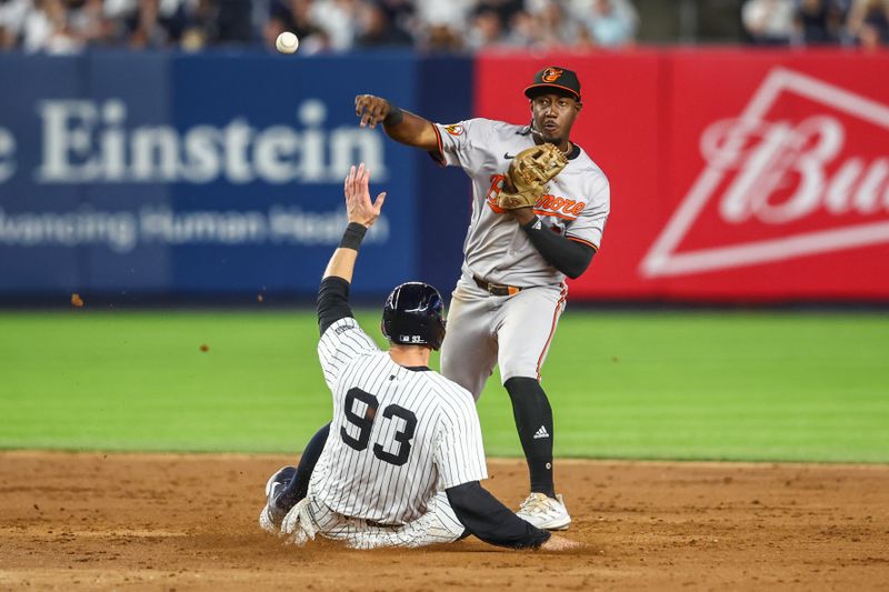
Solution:
{"label": "blue wall sign with white Einstein lettering", "polygon": [[358,162],[396,199],[356,289],[388,291],[417,265],[421,154],[359,128],[353,101],[411,109],[416,68],[407,54],[0,57],[16,81],[0,93],[0,291],[312,293]]}

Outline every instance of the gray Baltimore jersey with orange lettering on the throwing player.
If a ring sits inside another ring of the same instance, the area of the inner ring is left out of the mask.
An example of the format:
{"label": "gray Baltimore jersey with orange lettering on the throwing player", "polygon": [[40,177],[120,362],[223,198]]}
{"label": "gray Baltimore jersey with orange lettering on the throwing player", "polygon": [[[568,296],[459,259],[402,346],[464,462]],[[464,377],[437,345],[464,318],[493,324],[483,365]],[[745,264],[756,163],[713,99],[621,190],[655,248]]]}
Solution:
{"label": "gray Baltimore jersey with orange lettering on the throwing player", "polygon": [[[437,123],[444,164],[460,165],[472,179],[472,219],[463,242],[463,272],[495,283],[529,288],[561,283],[528,235],[497,205],[503,175],[518,152],[535,146],[528,126],[489,119]],[[535,213],[543,224],[571,240],[599,249],[610,210],[608,179],[580,149],[550,181]]]}

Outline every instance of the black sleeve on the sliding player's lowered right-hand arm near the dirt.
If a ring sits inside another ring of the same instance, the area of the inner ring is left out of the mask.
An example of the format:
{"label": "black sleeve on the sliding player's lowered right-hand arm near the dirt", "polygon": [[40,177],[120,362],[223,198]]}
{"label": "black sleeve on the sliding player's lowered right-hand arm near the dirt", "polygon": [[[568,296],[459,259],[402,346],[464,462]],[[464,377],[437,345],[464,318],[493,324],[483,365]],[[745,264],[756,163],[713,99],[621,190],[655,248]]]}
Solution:
{"label": "black sleeve on the sliding player's lowered right-hand arm near the dirt", "polygon": [[463,526],[486,543],[511,549],[537,549],[549,541],[549,532],[517,516],[478,481],[449,488],[446,493]]}

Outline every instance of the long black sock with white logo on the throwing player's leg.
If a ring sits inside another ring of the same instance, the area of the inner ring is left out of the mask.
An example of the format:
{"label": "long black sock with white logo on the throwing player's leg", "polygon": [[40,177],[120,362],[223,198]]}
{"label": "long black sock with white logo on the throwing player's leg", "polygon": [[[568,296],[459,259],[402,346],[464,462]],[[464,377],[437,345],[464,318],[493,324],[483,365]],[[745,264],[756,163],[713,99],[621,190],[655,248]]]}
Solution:
{"label": "long black sock with white logo on the throwing player's leg", "polygon": [[515,377],[503,385],[512,400],[512,414],[531,474],[531,491],[556,496],[552,483],[552,408],[540,382]]}

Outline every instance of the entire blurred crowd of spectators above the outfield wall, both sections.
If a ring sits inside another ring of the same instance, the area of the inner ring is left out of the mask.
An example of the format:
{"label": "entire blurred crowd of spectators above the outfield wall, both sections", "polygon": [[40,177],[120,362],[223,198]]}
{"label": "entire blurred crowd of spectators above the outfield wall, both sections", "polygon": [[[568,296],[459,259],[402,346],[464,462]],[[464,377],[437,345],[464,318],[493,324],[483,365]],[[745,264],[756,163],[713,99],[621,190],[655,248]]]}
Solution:
{"label": "entire blurred crowd of spectators above the outfield wall, both sections", "polygon": [[[889,0],[739,1],[753,43],[889,42]],[[299,36],[303,53],[620,48],[636,42],[638,26],[632,0],[0,0],[0,50],[47,53],[271,49],[282,31]]]}

